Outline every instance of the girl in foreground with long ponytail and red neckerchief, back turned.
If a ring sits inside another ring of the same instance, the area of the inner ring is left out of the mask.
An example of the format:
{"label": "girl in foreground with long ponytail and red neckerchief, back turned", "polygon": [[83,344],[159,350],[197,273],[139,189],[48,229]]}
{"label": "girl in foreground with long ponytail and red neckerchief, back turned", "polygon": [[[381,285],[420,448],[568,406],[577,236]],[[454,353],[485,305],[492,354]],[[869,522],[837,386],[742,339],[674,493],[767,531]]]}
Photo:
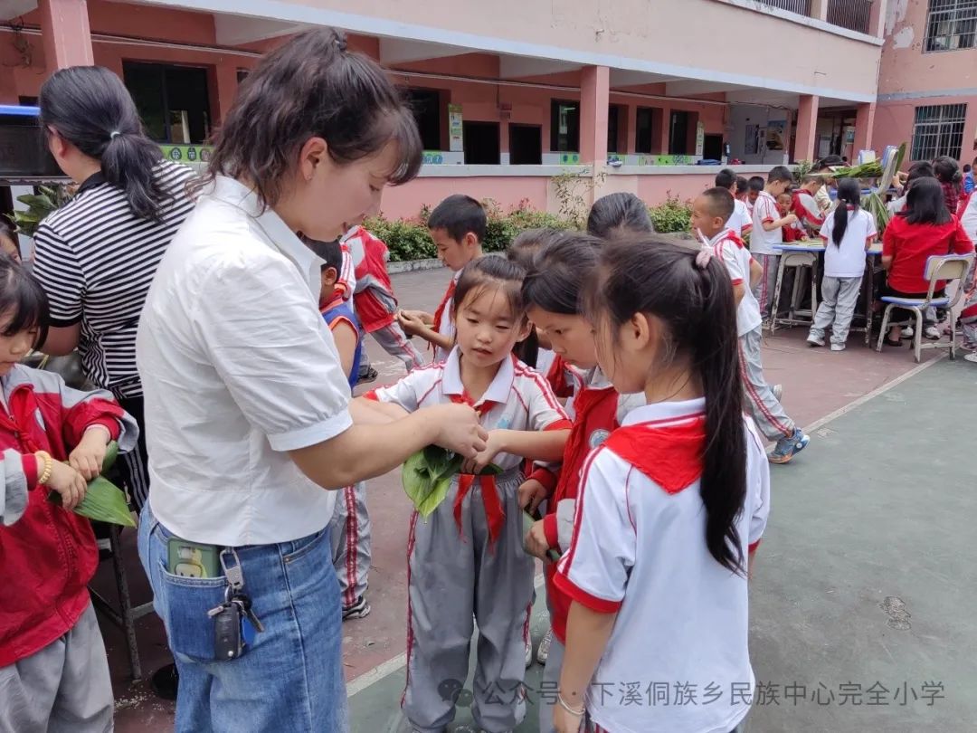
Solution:
{"label": "girl in foreground with long ponytail and red neckerchief, back turned", "polygon": [[[749,711],[746,578],[769,475],[743,416],[733,288],[701,255],[656,237],[611,242],[585,290],[600,367],[648,404],[582,469],[556,577],[573,598],[558,733],[576,733],[584,714],[598,731],[725,733]],[[656,706],[662,680],[720,697]],[[602,692],[623,684],[645,704]]]}

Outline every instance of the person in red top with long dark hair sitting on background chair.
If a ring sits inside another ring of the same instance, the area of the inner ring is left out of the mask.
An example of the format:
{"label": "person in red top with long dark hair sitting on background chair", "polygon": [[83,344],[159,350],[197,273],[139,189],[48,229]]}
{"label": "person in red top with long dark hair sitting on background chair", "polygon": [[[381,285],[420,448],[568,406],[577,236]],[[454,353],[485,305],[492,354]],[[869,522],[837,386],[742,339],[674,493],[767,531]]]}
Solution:
{"label": "person in red top with long dark hair sitting on background chair", "polygon": [[[882,237],[882,267],[887,273],[886,295],[900,298],[925,298],[929,280],[924,277],[926,261],[934,255],[966,254],[974,251],[960,223],[947,210],[943,188],[935,178],[913,181],[907,196],[907,209],[893,217]],[[933,297],[943,296],[937,283]],[[913,318],[910,311],[893,309],[895,323]],[[924,318],[926,338],[938,339],[935,311],[927,309]],[[902,345],[902,326],[893,325],[885,337],[888,346]]]}

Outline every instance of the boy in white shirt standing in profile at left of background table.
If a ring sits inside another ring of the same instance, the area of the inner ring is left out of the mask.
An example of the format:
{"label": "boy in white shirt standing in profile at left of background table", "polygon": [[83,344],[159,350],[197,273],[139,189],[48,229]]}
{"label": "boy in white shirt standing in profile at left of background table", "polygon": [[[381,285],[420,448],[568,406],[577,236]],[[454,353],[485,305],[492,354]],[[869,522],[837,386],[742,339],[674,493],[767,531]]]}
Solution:
{"label": "boy in white shirt standing in profile at left of background table", "polygon": [[749,238],[749,250],[763,268],[763,275],[753,288],[753,295],[760,305],[763,323],[767,323],[772,315],[777,315],[773,299],[781,253],[774,249],[774,245],[784,242],[783,227],[797,221],[795,214],[781,216],[777,208],[777,196],[786,192],[793,184],[793,180],[790,169],[785,165],[778,165],[770,171],[767,185],[753,204],[753,234]]}

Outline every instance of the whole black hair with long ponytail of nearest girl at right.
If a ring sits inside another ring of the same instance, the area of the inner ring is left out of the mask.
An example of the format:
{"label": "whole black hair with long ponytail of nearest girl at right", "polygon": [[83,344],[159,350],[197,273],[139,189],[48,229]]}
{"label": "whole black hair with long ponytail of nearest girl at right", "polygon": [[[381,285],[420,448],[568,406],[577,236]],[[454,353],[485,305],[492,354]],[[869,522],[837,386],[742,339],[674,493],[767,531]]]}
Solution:
{"label": "whole black hair with long ponytail of nearest girl at right", "polygon": [[658,237],[605,245],[588,283],[584,309],[591,321],[619,332],[637,313],[667,328],[668,358],[687,358],[705,394],[705,449],[700,494],[705,544],[716,562],[743,574],[736,520],[746,497],[746,432],[737,337],[736,301],[717,258],[701,268],[694,250]]}

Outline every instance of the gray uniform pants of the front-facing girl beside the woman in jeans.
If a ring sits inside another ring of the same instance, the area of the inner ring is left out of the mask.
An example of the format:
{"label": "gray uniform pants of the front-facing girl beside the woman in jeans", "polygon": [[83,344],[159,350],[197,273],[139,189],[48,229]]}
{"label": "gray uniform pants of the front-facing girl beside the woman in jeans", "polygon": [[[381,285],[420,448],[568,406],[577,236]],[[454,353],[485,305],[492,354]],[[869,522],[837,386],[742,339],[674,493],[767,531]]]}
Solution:
{"label": "gray uniform pants of the front-facing girl beside the woman in jeans", "polygon": [[[483,477],[485,491],[491,485]],[[472,620],[479,627],[472,713],[488,733],[515,728],[526,715],[526,639],[533,559],[523,549],[518,469],[495,477],[505,521],[488,537],[483,489],[475,483],[453,504],[457,478],[425,521],[416,512],[407,540],[407,684],[404,715],[420,733],[441,733],[468,678]]]}

